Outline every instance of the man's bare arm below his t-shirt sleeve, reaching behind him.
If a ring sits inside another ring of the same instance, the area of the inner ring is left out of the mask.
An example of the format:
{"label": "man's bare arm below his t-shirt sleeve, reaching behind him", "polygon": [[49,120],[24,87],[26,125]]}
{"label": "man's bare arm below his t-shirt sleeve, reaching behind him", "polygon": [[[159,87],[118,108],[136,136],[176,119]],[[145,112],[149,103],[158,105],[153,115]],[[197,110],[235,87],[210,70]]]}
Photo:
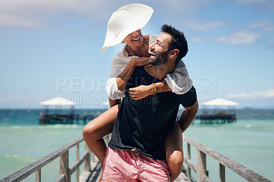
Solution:
{"label": "man's bare arm below his t-shirt sleeve, reaching behind him", "polygon": [[182,129],[182,133],[186,131],[191,122],[194,120],[197,111],[198,111],[198,101],[194,103],[191,107],[184,107],[185,110],[179,118],[180,127]]}

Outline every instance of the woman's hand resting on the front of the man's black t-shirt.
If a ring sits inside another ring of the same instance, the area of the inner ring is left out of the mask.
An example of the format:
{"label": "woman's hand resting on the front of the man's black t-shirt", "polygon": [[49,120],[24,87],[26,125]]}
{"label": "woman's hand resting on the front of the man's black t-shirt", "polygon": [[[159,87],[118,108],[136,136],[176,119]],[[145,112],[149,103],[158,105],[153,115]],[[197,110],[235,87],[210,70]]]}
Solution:
{"label": "woman's hand resting on the front of the man's black t-shirt", "polygon": [[153,93],[153,86],[138,86],[136,88],[129,88],[129,96],[132,97],[133,100],[143,99]]}

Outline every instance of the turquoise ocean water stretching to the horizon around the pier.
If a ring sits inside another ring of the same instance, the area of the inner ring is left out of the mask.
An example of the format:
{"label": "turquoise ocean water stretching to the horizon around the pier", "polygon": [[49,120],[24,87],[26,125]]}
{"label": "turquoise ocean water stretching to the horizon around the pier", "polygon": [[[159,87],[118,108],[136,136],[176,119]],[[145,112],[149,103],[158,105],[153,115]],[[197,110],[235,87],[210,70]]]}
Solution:
{"label": "turquoise ocean water stretching to the horizon around the pier", "polygon": [[[40,125],[40,112],[43,109],[0,109],[0,179],[82,136],[82,124]],[[75,112],[97,114],[103,109]],[[237,109],[236,114],[236,122],[224,125],[200,125],[198,119],[194,120],[184,134],[274,181],[274,109]],[[70,151],[70,155],[73,153]],[[192,147],[194,161],[196,155]],[[219,181],[219,164],[208,156],[207,169],[210,179]],[[59,160],[55,159],[42,168],[42,181],[55,181],[58,174]],[[225,174],[226,181],[245,181],[227,168]],[[34,175],[24,181],[34,181]]]}

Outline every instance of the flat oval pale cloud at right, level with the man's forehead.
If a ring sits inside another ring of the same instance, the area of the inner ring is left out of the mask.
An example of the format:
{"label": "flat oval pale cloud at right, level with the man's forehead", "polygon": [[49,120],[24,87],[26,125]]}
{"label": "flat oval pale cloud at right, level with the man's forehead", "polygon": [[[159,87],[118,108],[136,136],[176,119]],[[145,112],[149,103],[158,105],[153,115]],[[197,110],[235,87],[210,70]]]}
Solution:
{"label": "flat oval pale cloud at right, level with the man's forehead", "polygon": [[216,42],[221,44],[252,44],[260,37],[260,34],[252,31],[237,31],[234,34],[228,34],[226,36],[219,36],[216,38]]}

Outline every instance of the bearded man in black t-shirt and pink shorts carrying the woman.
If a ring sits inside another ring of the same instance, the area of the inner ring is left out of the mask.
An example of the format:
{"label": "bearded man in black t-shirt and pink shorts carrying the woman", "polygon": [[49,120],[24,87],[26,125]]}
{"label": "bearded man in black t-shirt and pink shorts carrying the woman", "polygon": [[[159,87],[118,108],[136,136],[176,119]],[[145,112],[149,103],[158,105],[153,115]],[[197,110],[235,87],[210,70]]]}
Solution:
{"label": "bearded man in black t-shirt and pink shorts carrying the woman", "polygon": [[[195,118],[198,109],[195,88],[180,95],[155,94],[157,88],[153,83],[172,73],[188,51],[182,32],[169,25],[163,25],[162,31],[150,46],[155,53],[150,57],[151,65],[136,67],[127,83],[105,157],[102,181],[169,181],[164,142],[173,129],[179,105],[186,109],[179,119],[182,131]],[[153,94],[134,100],[134,92],[129,90],[149,84],[155,87]]]}

